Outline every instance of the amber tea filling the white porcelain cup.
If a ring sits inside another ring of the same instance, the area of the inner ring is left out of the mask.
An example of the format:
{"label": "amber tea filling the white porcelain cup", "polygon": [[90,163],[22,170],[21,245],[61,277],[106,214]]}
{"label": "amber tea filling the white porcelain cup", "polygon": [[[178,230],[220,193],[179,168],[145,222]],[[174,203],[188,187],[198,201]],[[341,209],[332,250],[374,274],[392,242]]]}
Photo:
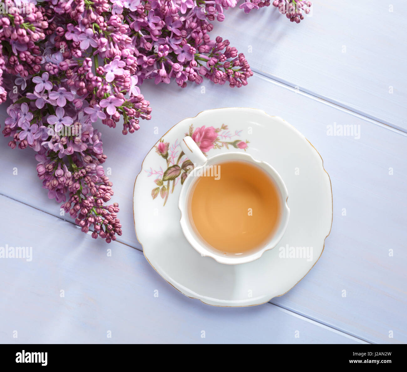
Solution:
{"label": "amber tea filling the white porcelain cup", "polygon": [[195,230],[225,254],[264,247],[282,214],[278,188],[263,169],[245,161],[214,167],[217,172],[197,176],[193,186],[189,202]]}

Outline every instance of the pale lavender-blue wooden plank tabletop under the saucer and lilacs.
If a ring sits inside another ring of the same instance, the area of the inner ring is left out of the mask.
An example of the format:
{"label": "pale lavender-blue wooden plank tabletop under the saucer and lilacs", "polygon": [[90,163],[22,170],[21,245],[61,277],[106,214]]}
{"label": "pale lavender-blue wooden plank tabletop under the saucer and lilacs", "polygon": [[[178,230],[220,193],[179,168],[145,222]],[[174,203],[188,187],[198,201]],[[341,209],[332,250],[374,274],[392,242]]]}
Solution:
{"label": "pale lavender-blue wooden plank tabletop under the saucer and lilacs", "polygon": [[[300,24],[271,8],[230,9],[216,24],[212,38],[228,38],[249,60],[248,86],[149,81],[142,93],[151,121],[127,136],[99,125],[123,225],[110,245],[60,215],[31,150],[0,139],[0,246],[33,247],[31,262],[0,259],[0,342],[407,342],[405,4],[314,3]],[[184,117],[232,106],[298,128],[322,155],[333,190],[333,227],[315,267],[286,295],[250,308],[211,307],[175,291],[145,260],[133,228],[134,179],[155,142]],[[328,135],[334,123],[355,125],[360,138]]]}

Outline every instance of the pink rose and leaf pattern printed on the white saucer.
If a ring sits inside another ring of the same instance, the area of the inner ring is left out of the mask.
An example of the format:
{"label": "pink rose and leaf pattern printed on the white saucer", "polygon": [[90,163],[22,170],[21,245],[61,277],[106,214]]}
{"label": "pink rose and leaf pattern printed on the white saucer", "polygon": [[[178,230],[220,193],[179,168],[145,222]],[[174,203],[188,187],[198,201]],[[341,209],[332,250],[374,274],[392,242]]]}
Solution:
{"label": "pink rose and leaf pattern printed on the white saucer", "polygon": [[[236,149],[246,151],[249,141],[242,141],[241,139],[235,139],[240,137],[241,130],[236,130],[231,133],[228,130],[228,125],[222,124],[221,128],[206,127],[205,125],[195,128],[191,124],[186,136],[191,136],[195,143],[199,146],[199,149],[206,155],[209,150],[221,149],[232,146]],[[174,192],[175,185],[180,181],[181,185],[184,183],[185,178],[189,172],[194,168],[192,161],[190,161],[183,151],[179,152],[179,141],[170,144],[165,142],[164,138],[160,139],[158,145],[155,145],[155,152],[160,155],[166,161],[166,169],[153,169],[150,167],[146,170],[147,177],[155,177],[154,182],[156,187],[151,191],[153,199],[158,195],[164,199],[164,205],[167,202],[169,194]],[[172,181],[172,183],[171,183]]]}

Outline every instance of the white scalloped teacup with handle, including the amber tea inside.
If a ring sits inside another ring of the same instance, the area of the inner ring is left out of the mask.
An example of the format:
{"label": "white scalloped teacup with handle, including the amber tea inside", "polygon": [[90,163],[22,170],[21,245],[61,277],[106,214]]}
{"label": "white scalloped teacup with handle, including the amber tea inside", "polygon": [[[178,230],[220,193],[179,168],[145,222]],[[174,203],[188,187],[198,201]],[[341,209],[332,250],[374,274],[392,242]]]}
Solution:
{"label": "white scalloped teacup with handle, including the amber tea inside", "polygon": [[178,200],[192,247],[222,264],[251,262],[276,247],[290,215],[287,187],[276,169],[244,152],[207,158],[190,136],[180,146],[194,165]]}

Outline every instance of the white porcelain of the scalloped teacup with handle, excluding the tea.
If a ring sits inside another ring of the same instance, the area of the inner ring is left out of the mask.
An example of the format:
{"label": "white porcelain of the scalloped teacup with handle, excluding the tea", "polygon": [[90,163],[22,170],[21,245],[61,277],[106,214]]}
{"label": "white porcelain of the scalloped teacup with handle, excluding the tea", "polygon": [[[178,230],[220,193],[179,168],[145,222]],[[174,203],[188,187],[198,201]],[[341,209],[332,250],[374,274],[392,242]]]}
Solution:
{"label": "white porcelain of the scalloped teacup with handle, excluding the tea", "polygon": [[[288,191],[287,187],[284,184],[281,176],[278,174],[276,169],[274,169],[271,165],[264,161],[258,161],[254,159],[251,155],[243,153],[243,152],[225,152],[223,154],[214,155],[210,158],[207,158],[199,149],[198,145],[190,136],[184,137],[182,139],[180,146],[182,151],[186,154],[186,156],[192,161],[195,165],[194,172],[190,172],[188,177],[186,177],[184,184],[182,185],[181,193],[179,194],[178,200],[178,208],[181,211],[181,219],[180,224],[182,231],[184,233],[185,238],[188,242],[198,251],[202,256],[209,256],[212,257],[214,260],[221,264],[244,264],[247,262],[251,262],[257,260],[261,257],[261,255],[268,251],[269,249],[273,249],[276,247],[278,242],[281,240],[282,236],[284,235],[285,230],[287,229],[290,209],[287,205],[288,199]],[[218,249],[214,249],[210,244],[208,244],[199,233],[197,233],[196,229],[194,229],[194,222],[191,216],[190,211],[190,193],[193,191],[193,186],[197,181],[198,177],[194,175],[199,174],[199,169],[203,167],[209,167],[213,165],[217,165],[219,163],[223,163],[225,161],[245,161],[248,163],[252,163],[257,167],[263,169],[263,171],[268,174],[271,180],[274,181],[274,185],[278,189],[278,193],[280,196],[280,205],[281,205],[281,217],[278,221],[277,228],[274,230],[274,233],[261,247],[258,249],[254,249],[248,251],[244,254],[234,255],[228,254],[225,252],[221,252]]]}

